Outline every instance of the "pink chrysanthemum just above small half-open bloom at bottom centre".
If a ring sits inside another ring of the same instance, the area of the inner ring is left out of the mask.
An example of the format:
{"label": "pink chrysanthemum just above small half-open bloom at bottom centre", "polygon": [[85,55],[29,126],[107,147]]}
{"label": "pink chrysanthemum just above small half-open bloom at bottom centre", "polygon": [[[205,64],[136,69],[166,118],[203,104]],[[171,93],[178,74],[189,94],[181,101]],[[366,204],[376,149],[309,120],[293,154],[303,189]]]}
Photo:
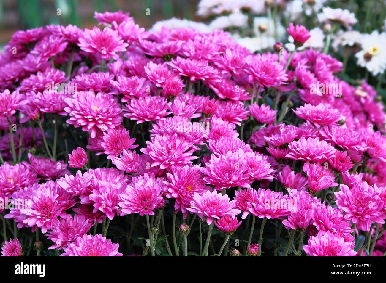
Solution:
{"label": "pink chrysanthemum just above small half-open bloom at bottom centre", "polygon": [[230,201],[228,196],[217,193],[216,190],[209,190],[202,195],[194,193],[191,208],[186,208],[191,213],[196,213],[198,217],[207,218],[208,225],[213,223],[213,219],[219,219],[225,215],[235,216],[239,214],[240,209],[234,209],[236,201]]}

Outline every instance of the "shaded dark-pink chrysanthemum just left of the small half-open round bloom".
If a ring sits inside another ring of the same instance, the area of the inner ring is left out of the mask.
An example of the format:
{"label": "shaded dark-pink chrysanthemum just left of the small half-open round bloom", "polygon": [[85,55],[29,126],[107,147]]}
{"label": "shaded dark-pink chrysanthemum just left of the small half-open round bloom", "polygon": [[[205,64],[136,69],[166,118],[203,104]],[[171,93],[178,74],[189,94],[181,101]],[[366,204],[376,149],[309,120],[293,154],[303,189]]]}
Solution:
{"label": "shaded dark-pink chrysanthemum just left of the small half-open round bloom", "polygon": [[64,164],[63,161],[53,161],[46,157],[36,157],[30,153],[28,153],[28,160],[36,173],[45,180],[58,179],[66,174],[71,174],[67,170],[67,164]]}

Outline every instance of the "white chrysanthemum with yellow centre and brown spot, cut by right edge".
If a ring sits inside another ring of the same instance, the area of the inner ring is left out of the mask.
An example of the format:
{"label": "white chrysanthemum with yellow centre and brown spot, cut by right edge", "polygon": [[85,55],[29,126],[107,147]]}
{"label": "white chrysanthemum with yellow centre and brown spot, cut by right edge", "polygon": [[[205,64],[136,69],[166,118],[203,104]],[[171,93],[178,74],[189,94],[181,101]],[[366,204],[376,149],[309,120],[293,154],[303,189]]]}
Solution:
{"label": "white chrysanthemum with yellow centre and brown spot, cut by right edge", "polygon": [[374,76],[386,69],[386,33],[374,30],[371,34],[362,35],[362,50],[355,54],[358,65],[365,67]]}

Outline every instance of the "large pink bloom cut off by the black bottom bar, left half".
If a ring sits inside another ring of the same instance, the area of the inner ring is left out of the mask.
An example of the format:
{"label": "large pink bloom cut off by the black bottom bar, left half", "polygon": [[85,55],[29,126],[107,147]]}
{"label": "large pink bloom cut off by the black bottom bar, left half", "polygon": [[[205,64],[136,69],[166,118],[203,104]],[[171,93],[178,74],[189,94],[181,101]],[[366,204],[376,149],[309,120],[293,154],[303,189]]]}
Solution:
{"label": "large pink bloom cut off by the black bottom bar, left half", "polygon": [[119,244],[114,244],[101,234],[83,235],[70,243],[60,256],[123,256],[118,252]]}

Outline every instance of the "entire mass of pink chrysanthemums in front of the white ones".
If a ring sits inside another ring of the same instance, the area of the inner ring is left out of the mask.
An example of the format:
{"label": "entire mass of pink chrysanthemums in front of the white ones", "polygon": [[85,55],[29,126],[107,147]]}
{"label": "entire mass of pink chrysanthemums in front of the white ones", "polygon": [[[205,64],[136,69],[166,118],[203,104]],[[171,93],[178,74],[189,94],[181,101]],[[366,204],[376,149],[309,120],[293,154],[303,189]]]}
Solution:
{"label": "entire mass of pink chrysanthemums in front of the white ones", "polygon": [[[12,198],[0,211],[43,234],[38,255],[127,255],[110,221],[129,248],[134,230],[150,238],[134,248],[142,255],[179,255],[182,221],[200,225],[191,241],[207,233],[199,255],[215,227],[232,246],[242,222],[244,255],[386,251],[385,113],[371,85],[339,79],[342,62],[312,48],[252,54],[221,30],[95,18],[102,28],[17,32],[0,57],[16,74],[0,72],[0,200]],[[310,38],[300,25],[287,31],[296,47]],[[342,89],[323,93],[317,82]],[[269,225],[283,231],[284,252],[265,246]],[[158,244],[161,234],[173,236]],[[354,251],[359,235],[370,251]],[[5,256],[22,253],[18,239],[3,246]]]}

